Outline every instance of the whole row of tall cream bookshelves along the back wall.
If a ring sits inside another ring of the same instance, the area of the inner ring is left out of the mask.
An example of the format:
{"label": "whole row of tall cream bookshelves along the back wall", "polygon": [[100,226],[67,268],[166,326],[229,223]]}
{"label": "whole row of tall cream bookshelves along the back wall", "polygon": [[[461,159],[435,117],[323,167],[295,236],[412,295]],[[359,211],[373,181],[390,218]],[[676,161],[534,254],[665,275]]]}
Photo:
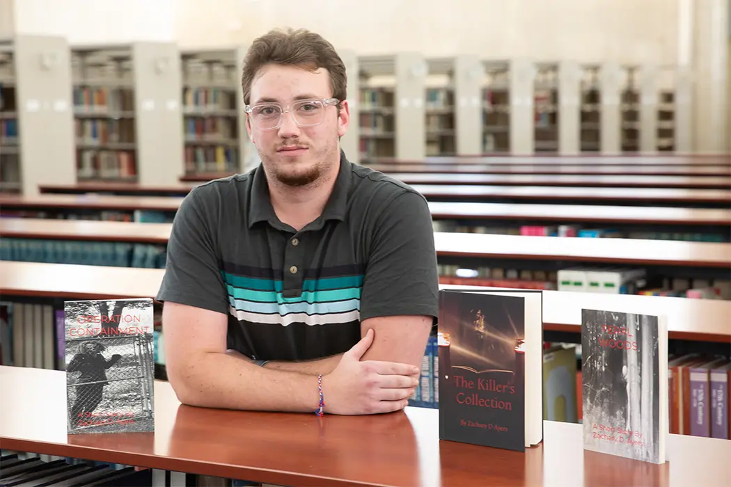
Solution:
{"label": "whole row of tall cream bookshelves along the back wall", "polygon": [[[0,191],[213,179],[258,164],[240,91],[245,52],[4,39]],[[341,142],[354,162],[693,149],[693,73],[678,66],[340,53],[352,118]]]}

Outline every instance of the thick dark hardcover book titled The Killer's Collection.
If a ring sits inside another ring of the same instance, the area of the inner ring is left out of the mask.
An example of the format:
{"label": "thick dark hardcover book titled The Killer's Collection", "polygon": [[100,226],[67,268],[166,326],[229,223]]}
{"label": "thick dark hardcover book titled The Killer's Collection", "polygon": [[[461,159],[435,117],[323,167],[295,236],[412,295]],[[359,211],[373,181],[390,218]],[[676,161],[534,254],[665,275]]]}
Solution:
{"label": "thick dark hardcover book titled The Killer's Collection", "polygon": [[439,291],[439,438],[524,451],[542,441],[541,291]]}

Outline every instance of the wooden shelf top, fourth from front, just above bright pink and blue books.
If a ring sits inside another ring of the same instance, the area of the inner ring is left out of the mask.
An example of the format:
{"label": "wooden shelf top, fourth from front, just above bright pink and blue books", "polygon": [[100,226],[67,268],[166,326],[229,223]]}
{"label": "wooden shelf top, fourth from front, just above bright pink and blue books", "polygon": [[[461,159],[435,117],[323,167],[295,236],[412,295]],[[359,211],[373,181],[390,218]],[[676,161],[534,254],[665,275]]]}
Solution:
{"label": "wooden shelf top, fourth from front, just above bright pink and blue books", "polygon": [[[0,196],[0,208],[12,210],[155,210],[175,212],[182,198],[164,196],[107,196],[42,194],[38,196]],[[674,208],[561,205],[504,204],[470,202],[429,202],[435,219],[472,220],[530,220],[587,223],[659,223],[665,225],[723,225],[731,224],[731,210],[715,208]]]}

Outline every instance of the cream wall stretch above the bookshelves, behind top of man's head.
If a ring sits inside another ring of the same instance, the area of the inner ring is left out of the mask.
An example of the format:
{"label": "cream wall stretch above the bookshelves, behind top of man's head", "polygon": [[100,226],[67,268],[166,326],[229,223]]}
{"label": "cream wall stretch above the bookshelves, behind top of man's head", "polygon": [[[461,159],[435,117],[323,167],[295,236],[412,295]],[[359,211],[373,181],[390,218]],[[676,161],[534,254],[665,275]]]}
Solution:
{"label": "cream wall stretch above the bookshelves, behind top of man's head", "polygon": [[417,50],[486,58],[675,63],[673,0],[175,1],[181,45],[249,42],[273,27],[311,28],[357,53]]}

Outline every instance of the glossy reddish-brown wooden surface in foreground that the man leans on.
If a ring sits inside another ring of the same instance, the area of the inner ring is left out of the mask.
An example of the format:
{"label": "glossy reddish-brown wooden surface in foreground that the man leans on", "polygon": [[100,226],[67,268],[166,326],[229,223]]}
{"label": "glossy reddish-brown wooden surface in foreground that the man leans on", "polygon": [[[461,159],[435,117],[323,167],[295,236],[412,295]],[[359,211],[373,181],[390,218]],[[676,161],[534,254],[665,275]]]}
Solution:
{"label": "glossy reddish-brown wooden surface in foreground that the man leans on", "polygon": [[0,367],[3,448],[284,486],[731,485],[731,441],[671,434],[667,464],[583,450],[582,426],[544,421],[526,453],[439,440],[439,411],[383,415],[216,410],[155,381],[155,432],[66,432],[63,371]]}

